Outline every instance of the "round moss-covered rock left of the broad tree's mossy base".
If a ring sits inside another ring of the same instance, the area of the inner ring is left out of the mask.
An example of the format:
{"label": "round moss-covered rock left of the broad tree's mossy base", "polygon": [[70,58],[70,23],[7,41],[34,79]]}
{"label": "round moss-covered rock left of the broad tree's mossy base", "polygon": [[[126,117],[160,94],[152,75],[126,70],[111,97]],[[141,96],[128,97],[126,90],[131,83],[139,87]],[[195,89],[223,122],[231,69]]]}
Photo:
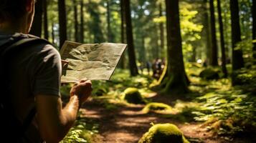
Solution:
{"label": "round moss-covered rock left of the broad tree's mossy base", "polygon": [[128,89],[125,89],[124,91],[124,97],[126,102],[133,103],[133,104],[145,104],[146,101],[141,96],[141,93],[138,92],[137,88],[129,87]]}

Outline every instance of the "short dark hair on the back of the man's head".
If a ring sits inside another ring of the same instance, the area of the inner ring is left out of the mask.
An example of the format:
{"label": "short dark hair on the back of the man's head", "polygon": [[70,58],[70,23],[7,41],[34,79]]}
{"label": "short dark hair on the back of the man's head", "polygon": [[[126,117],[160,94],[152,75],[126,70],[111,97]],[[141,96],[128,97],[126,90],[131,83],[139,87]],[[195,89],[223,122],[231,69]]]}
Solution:
{"label": "short dark hair on the back of the man's head", "polygon": [[0,22],[19,19],[26,12],[27,0],[0,0]]}

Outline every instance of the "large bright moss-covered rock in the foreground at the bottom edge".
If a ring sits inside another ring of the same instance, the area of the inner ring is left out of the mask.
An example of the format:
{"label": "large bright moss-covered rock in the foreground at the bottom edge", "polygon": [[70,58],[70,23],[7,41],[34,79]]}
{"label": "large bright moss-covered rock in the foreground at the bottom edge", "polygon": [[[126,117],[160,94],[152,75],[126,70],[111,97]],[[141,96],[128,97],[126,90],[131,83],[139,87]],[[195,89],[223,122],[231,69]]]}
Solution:
{"label": "large bright moss-covered rock in the foreground at the bottom edge", "polygon": [[174,124],[155,124],[138,143],[189,143],[183,133]]}

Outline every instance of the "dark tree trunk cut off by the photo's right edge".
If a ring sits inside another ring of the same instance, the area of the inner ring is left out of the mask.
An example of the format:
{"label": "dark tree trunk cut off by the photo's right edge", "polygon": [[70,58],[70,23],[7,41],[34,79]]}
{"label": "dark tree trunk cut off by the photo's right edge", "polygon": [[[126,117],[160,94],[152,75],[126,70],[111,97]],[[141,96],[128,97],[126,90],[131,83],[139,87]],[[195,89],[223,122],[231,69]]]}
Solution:
{"label": "dark tree trunk cut off by the photo's right edge", "polygon": [[256,59],[256,0],[252,0],[252,39],[253,42],[253,57]]}

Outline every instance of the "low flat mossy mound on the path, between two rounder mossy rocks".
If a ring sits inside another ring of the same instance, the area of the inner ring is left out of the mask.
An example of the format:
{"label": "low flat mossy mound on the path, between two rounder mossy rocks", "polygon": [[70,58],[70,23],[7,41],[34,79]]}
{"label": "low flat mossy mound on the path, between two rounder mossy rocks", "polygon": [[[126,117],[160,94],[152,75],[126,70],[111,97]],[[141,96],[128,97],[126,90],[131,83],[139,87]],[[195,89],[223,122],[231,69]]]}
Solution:
{"label": "low flat mossy mound on the path, between two rounder mossy rocks", "polygon": [[148,112],[159,111],[159,110],[167,111],[167,110],[171,110],[171,107],[167,104],[152,102],[147,104],[142,111],[148,113]]}

